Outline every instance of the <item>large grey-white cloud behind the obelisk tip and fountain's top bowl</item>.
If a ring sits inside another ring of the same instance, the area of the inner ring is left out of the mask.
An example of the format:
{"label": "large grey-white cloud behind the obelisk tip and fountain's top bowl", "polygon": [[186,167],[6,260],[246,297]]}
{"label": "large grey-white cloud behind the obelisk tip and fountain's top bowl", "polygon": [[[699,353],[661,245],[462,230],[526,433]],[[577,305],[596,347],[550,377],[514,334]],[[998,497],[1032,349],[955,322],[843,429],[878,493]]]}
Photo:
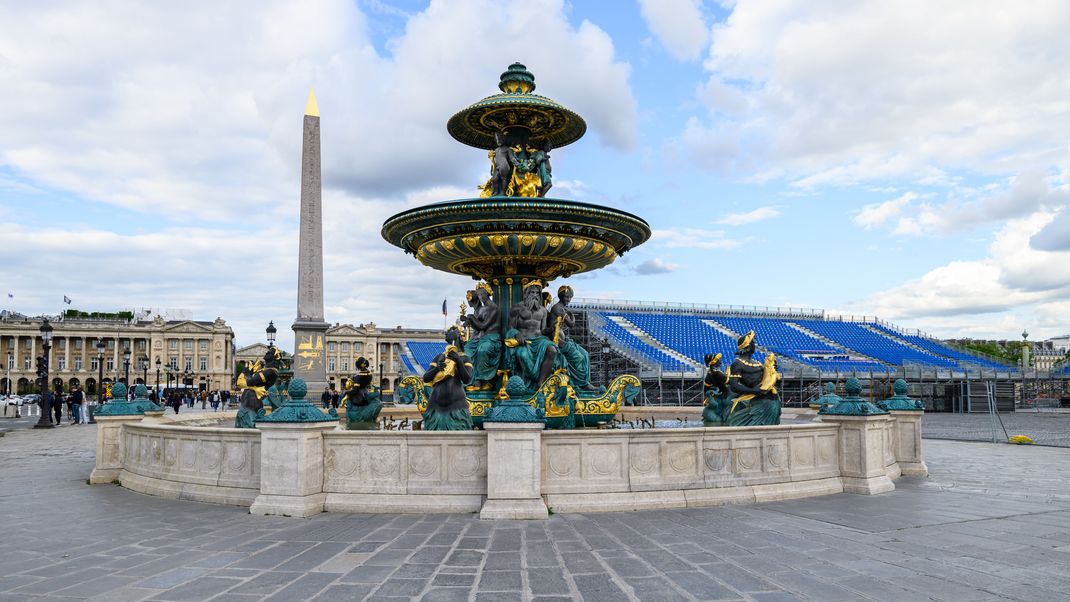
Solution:
{"label": "large grey-white cloud behind the obelisk tip and fountain's top bowl", "polygon": [[150,215],[277,220],[297,196],[315,87],[326,186],[468,196],[486,155],[445,122],[496,93],[516,58],[593,138],[635,145],[630,68],[603,30],[569,22],[563,0],[433,2],[386,51],[368,28],[349,0],[4,4],[0,88],[19,102],[0,113],[0,167]]}

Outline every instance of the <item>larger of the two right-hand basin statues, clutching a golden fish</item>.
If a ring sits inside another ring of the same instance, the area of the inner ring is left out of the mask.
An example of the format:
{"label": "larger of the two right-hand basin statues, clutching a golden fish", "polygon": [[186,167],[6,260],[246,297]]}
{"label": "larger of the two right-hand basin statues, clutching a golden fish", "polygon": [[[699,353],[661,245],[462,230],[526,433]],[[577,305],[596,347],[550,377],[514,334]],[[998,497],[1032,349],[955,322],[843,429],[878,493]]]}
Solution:
{"label": "larger of the two right-hand basin statues, clutching a golden fish", "polygon": [[768,353],[764,362],[758,361],[753,359],[756,350],[753,330],[737,340],[736,358],[728,374],[729,389],[733,395],[725,419],[730,427],[780,423],[777,357]]}

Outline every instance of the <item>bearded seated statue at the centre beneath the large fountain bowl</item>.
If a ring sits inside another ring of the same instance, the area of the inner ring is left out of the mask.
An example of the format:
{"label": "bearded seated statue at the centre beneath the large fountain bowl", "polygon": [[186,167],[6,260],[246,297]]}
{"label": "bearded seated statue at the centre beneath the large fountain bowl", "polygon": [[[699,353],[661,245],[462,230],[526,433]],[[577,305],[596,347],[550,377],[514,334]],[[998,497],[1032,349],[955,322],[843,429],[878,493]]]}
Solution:
{"label": "bearded seated statue at the centre beneath the large fountain bowl", "polygon": [[528,282],[523,291],[523,299],[509,310],[506,368],[534,389],[553,373],[557,345],[545,335],[550,312],[542,300],[541,280]]}

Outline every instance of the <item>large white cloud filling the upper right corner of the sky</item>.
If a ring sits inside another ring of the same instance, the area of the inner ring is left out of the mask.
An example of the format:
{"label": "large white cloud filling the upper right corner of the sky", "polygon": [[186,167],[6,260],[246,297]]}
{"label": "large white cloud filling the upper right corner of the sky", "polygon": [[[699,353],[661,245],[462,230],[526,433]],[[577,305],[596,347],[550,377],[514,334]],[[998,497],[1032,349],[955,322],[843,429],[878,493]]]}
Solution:
{"label": "large white cloud filling the upper right corner of the sky", "polygon": [[[738,0],[713,27],[678,143],[735,153],[748,177],[800,186],[1066,165],[1070,5]],[[725,111],[725,89],[734,90]],[[716,93],[706,93],[705,91]]]}

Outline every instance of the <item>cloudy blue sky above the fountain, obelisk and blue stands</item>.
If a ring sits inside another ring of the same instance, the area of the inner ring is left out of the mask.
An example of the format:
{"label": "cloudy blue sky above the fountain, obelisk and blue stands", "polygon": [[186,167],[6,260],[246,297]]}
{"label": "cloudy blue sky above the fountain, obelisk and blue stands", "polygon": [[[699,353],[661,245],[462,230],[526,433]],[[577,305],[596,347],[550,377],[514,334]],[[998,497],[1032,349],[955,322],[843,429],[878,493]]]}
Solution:
{"label": "cloudy blue sky above the fountain, obelisk and blue stands", "polygon": [[380,229],[475,195],[446,120],[519,61],[588,126],[551,196],[654,231],[577,297],[1063,335],[1068,30],[1059,0],[0,0],[0,308],[292,345],[315,88],[326,320],[453,321],[472,281]]}

